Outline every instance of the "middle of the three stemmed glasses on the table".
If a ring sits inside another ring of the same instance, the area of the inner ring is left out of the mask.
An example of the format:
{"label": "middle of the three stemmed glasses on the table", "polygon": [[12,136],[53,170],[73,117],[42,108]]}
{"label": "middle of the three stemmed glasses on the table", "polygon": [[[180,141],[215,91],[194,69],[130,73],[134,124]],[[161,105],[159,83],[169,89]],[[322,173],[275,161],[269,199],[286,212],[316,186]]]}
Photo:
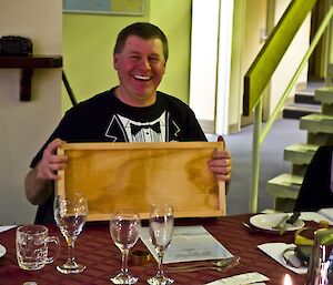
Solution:
{"label": "middle of the three stemmed glasses on the table", "polygon": [[113,284],[134,284],[138,281],[138,277],[133,277],[129,273],[128,256],[130,248],[139,238],[140,227],[139,214],[130,210],[119,210],[111,215],[110,234],[121,252],[121,271],[110,278]]}

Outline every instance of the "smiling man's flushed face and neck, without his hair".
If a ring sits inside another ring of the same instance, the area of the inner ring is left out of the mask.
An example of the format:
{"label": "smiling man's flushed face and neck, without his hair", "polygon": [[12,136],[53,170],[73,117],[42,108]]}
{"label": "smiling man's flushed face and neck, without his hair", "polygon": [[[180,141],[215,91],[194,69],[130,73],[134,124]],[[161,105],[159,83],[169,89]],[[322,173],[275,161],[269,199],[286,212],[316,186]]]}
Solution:
{"label": "smiling man's flushed face and neck, without his hair", "polygon": [[134,106],[153,104],[165,71],[162,41],[130,35],[123,51],[113,54],[113,67],[118,71],[117,95],[121,101]]}

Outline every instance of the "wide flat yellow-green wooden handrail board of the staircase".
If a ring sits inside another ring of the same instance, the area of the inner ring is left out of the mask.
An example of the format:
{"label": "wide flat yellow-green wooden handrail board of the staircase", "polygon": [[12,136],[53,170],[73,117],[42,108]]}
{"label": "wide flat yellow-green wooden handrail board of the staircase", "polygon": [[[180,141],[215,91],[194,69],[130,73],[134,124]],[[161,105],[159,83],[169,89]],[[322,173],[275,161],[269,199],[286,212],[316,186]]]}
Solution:
{"label": "wide flat yellow-green wooden handrail board of the staircase", "polygon": [[264,88],[317,0],[293,0],[244,77],[243,114],[255,108]]}

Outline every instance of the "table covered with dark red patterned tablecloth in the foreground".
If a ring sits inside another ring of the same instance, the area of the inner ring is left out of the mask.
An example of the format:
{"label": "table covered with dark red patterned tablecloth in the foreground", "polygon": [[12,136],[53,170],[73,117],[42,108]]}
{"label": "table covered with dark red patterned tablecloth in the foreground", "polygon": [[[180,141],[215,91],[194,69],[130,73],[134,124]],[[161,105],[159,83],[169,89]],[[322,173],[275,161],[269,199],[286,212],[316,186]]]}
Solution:
{"label": "table covered with dark red patterned tablecloth in the foreground", "polygon": [[[168,276],[174,279],[174,284],[195,285],[208,284],[243,273],[258,272],[270,278],[265,284],[284,284],[285,274],[291,276],[293,285],[304,284],[305,274],[301,275],[287,269],[258,248],[258,245],[263,243],[294,243],[294,233],[286,232],[280,235],[276,232],[249,231],[242,222],[249,222],[252,215],[239,214],[208,218],[176,218],[175,225],[202,225],[230,253],[240,256],[240,263],[222,272],[208,268],[195,272],[170,272]],[[142,221],[143,226],[147,225],[144,224],[145,222]],[[78,262],[87,266],[80,274],[64,275],[57,271],[56,266],[65,262],[68,257],[68,247],[57,225],[47,225],[47,227],[49,228],[49,235],[56,235],[60,238],[60,253],[56,262],[46,265],[39,271],[24,271],[18,266],[16,227],[0,233],[0,244],[7,250],[6,254],[0,257],[0,284],[26,285],[29,282],[32,282],[30,284],[34,285],[112,284],[110,277],[120,271],[121,253],[111,240],[109,223],[107,221],[85,223],[82,233],[79,235],[75,242],[74,255]],[[148,250],[142,241],[139,240],[130,252],[132,251],[145,252]],[[153,258],[149,262],[138,263],[130,257],[129,271],[132,275],[139,277],[137,284],[147,284],[147,279],[157,273],[157,268],[158,264]],[[168,265],[164,268],[168,269]]]}

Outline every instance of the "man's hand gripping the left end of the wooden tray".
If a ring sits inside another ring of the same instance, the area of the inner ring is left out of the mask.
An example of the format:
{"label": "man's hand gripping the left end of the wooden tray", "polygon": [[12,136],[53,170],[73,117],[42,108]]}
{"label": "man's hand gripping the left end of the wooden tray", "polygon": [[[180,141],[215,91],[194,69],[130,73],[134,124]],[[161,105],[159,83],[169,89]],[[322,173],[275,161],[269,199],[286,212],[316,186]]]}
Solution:
{"label": "man's hand gripping the left end of the wooden tray", "polygon": [[37,179],[59,180],[57,171],[63,170],[67,165],[65,155],[57,155],[57,149],[61,145],[61,140],[53,140],[43,151],[43,156],[37,165]]}

